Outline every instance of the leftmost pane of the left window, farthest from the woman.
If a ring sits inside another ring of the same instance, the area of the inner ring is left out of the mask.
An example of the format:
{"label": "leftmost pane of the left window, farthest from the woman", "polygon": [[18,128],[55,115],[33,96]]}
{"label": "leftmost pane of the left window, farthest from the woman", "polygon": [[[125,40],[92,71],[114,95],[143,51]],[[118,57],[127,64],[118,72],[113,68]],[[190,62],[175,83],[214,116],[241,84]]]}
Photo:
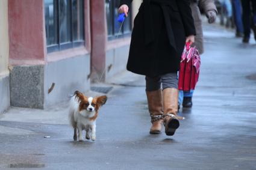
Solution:
{"label": "leftmost pane of the left window, farthest from the woman", "polygon": [[57,0],[45,0],[45,30],[47,46],[58,44]]}

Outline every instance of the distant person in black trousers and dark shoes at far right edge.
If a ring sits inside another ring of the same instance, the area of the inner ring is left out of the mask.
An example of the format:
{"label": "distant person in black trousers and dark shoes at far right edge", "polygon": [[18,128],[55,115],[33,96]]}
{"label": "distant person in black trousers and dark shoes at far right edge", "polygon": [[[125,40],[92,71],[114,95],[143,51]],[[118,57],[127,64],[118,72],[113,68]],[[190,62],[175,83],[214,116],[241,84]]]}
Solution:
{"label": "distant person in black trousers and dark shoes at far right edge", "polygon": [[242,0],[243,8],[243,43],[249,43],[251,28],[256,40],[256,0]]}

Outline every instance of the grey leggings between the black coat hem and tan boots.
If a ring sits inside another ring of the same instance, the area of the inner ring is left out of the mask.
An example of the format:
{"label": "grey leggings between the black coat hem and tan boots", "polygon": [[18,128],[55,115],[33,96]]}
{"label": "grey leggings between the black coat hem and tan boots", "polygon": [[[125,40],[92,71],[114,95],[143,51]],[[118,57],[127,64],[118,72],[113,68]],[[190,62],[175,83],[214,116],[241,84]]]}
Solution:
{"label": "grey leggings between the black coat hem and tan boots", "polygon": [[177,73],[167,73],[162,76],[148,77],[146,76],[146,91],[155,91],[161,88],[178,88]]}

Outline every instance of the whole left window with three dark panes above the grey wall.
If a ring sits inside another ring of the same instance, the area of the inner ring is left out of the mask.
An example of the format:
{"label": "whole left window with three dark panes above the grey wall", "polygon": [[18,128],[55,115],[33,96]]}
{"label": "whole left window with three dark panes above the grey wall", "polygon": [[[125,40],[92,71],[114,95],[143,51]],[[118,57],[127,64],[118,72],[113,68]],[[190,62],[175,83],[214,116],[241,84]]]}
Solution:
{"label": "whole left window with three dark panes above the grey wall", "polygon": [[84,0],[45,0],[48,52],[84,46]]}

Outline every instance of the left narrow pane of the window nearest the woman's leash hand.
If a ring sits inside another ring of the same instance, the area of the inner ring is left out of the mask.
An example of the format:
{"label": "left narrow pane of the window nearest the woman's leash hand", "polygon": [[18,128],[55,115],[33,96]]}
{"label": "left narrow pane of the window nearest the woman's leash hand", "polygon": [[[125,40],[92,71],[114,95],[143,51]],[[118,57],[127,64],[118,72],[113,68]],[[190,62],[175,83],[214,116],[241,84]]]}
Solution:
{"label": "left narrow pane of the window nearest the woman's leash hand", "polygon": [[105,1],[108,35],[113,35],[113,2],[114,0]]}

